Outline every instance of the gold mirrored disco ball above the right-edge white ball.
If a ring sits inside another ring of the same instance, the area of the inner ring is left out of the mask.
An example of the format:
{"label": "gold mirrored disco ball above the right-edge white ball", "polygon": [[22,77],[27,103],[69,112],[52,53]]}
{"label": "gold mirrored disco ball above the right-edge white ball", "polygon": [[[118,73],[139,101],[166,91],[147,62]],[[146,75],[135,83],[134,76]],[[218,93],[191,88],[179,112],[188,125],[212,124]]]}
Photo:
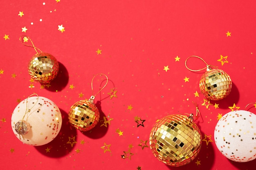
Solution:
{"label": "gold mirrored disco ball above the right-edge white ball", "polygon": [[202,94],[209,100],[220,100],[231,92],[230,76],[220,69],[207,68],[199,83]]}

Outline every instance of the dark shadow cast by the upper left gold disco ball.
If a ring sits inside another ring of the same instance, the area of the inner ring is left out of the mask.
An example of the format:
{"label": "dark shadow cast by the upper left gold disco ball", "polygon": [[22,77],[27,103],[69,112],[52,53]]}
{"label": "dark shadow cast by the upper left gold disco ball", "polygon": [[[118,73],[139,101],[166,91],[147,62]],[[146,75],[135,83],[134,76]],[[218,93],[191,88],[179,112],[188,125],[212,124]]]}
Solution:
{"label": "dark shadow cast by the upper left gold disco ball", "polygon": [[65,68],[65,66],[60,62],[58,62],[58,65],[59,65],[59,71],[56,78],[53,81],[51,81],[50,83],[51,86],[45,87],[45,89],[51,92],[61,91],[67,86],[67,83],[68,83],[69,76],[68,76],[67,68]]}

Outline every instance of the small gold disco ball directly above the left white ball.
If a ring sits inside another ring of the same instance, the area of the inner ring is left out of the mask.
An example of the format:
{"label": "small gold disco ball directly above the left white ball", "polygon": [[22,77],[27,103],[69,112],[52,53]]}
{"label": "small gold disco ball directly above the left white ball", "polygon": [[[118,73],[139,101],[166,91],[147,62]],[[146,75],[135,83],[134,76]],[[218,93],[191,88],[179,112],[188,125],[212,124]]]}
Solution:
{"label": "small gold disco ball directly above the left white ball", "polygon": [[34,55],[28,65],[29,75],[39,83],[50,83],[58,74],[58,61],[48,53]]}

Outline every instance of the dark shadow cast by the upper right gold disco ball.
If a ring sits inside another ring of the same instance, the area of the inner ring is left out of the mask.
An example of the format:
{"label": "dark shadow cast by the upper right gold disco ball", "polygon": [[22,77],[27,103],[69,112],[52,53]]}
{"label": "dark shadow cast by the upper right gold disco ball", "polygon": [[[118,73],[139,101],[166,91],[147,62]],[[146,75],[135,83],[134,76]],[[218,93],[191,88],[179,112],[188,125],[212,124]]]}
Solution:
{"label": "dark shadow cast by the upper right gold disco ball", "polygon": [[236,87],[234,82],[232,82],[232,89],[229,96],[218,101],[212,101],[212,103],[215,102],[216,104],[219,104],[219,108],[227,109],[233,106],[234,103],[236,104],[239,101],[239,98],[240,98],[240,94],[239,94],[238,88]]}

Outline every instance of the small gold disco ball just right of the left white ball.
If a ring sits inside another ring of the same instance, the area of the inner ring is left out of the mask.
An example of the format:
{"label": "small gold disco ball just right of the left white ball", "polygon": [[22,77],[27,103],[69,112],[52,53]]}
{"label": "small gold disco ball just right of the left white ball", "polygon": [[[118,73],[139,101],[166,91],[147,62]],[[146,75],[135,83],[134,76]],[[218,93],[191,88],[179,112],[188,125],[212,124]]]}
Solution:
{"label": "small gold disco ball just right of the left white ball", "polygon": [[99,110],[94,104],[95,96],[80,100],[70,107],[69,122],[80,131],[89,131],[99,122]]}

